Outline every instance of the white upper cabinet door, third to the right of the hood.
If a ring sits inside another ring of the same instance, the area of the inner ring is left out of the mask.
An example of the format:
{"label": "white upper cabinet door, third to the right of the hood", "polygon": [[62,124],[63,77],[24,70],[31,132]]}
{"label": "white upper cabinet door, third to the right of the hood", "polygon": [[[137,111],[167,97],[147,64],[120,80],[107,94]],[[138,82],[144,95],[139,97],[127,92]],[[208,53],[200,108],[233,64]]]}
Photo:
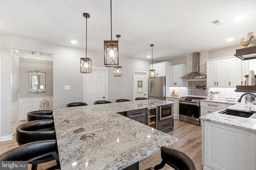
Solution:
{"label": "white upper cabinet door, third to the right of the hood", "polygon": [[228,86],[236,87],[242,82],[242,60],[238,58],[228,59]]}

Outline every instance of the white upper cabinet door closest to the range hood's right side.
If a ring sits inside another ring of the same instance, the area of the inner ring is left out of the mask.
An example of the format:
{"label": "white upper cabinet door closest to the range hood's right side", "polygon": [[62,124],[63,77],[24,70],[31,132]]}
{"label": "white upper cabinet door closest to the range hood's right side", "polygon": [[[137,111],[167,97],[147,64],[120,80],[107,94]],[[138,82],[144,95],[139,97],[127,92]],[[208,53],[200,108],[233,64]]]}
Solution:
{"label": "white upper cabinet door closest to the range hood's right side", "polygon": [[207,62],[207,87],[216,87],[217,80],[217,70],[216,70],[216,61]]}

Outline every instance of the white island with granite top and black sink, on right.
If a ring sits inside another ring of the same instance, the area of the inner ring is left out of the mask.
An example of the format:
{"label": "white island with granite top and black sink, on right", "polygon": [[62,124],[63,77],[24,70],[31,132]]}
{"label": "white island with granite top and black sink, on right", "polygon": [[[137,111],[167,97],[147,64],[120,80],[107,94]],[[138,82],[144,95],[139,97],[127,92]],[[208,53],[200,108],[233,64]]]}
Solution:
{"label": "white island with granite top and black sink, on right", "polygon": [[[250,103],[227,108],[256,111],[256,105]],[[245,118],[218,112],[200,117],[204,170],[255,170],[256,113]]]}

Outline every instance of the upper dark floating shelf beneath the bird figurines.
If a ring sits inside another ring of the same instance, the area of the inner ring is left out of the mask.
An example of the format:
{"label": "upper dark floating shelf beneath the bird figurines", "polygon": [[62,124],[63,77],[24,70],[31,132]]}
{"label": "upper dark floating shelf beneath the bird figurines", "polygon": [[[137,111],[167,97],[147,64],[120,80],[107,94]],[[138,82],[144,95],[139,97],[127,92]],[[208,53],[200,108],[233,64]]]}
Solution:
{"label": "upper dark floating shelf beneath the bird figurines", "polygon": [[237,49],[234,56],[241,60],[256,59],[256,46]]}

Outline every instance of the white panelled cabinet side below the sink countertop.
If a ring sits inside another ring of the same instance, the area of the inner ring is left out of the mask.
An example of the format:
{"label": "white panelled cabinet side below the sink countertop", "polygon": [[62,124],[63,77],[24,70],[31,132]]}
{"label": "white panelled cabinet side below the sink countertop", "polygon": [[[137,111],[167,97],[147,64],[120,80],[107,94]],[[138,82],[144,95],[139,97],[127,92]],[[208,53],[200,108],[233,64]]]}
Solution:
{"label": "white panelled cabinet side below the sink countertop", "polygon": [[202,120],[204,170],[256,170],[256,132]]}

